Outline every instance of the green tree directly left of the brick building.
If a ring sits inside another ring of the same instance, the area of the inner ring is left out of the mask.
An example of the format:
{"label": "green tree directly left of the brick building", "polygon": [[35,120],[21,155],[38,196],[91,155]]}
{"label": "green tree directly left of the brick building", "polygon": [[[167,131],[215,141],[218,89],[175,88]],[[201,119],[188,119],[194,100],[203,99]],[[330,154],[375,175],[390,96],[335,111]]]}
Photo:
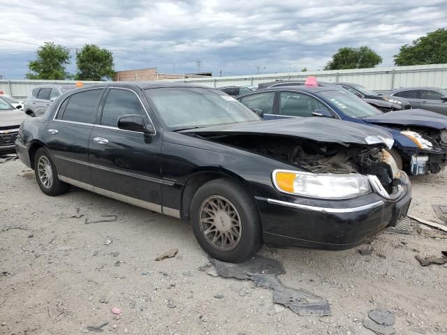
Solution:
{"label": "green tree directly left of the brick building", "polygon": [[86,44],[76,55],[78,80],[112,80],[115,77],[112,52],[94,44]]}

